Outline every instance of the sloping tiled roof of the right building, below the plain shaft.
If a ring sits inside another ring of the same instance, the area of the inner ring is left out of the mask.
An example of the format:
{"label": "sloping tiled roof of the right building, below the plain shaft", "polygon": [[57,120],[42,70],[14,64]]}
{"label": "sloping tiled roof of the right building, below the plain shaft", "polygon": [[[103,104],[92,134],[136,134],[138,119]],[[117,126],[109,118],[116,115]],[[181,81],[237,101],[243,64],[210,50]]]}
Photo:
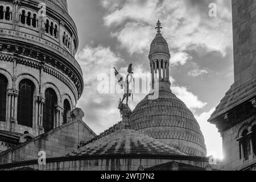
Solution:
{"label": "sloping tiled roof of the right building, below the plain shaft", "polygon": [[242,104],[245,101],[256,97],[256,78],[246,84],[235,88],[231,86],[225,97],[222,98],[220,104],[216,107],[214,113],[210,116],[209,122],[212,122],[217,117],[227,113],[230,109]]}

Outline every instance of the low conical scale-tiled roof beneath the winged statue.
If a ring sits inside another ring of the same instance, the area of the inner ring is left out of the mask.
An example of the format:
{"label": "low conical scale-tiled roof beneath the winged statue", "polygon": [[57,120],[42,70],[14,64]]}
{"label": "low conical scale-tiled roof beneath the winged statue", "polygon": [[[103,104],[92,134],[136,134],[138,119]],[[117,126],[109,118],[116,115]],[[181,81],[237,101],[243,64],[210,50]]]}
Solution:
{"label": "low conical scale-tiled roof beneath the winged statue", "polygon": [[89,143],[68,156],[85,155],[187,155],[134,130],[115,133]]}

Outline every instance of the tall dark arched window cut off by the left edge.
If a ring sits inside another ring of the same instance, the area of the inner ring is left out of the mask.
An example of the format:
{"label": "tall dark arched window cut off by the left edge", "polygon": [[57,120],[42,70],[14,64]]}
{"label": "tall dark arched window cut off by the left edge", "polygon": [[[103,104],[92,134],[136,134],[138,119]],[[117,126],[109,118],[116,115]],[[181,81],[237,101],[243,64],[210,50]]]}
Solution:
{"label": "tall dark arched window cut off by the left edge", "polygon": [[7,79],[0,75],[0,121],[6,121],[6,94],[7,94]]}

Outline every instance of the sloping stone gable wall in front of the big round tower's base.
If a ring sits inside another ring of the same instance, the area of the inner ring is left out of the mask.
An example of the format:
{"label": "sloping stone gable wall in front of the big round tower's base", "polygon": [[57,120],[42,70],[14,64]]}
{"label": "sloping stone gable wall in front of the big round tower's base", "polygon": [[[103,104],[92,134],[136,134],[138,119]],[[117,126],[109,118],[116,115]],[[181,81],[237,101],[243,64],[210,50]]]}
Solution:
{"label": "sloping stone gable wall in front of the big round tower's base", "polygon": [[72,122],[0,153],[0,164],[38,159],[39,151],[45,151],[47,158],[65,156],[77,150],[81,141],[88,141],[96,136],[82,121],[81,109],[75,109],[71,114]]}

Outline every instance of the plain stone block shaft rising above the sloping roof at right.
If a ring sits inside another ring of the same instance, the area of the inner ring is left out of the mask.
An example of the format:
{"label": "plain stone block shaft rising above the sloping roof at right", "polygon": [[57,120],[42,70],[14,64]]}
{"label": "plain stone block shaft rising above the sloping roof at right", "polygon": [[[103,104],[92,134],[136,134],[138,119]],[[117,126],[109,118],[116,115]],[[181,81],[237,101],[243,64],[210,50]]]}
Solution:
{"label": "plain stone block shaft rising above the sloping roof at right", "polygon": [[256,2],[232,0],[235,86],[256,77]]}

